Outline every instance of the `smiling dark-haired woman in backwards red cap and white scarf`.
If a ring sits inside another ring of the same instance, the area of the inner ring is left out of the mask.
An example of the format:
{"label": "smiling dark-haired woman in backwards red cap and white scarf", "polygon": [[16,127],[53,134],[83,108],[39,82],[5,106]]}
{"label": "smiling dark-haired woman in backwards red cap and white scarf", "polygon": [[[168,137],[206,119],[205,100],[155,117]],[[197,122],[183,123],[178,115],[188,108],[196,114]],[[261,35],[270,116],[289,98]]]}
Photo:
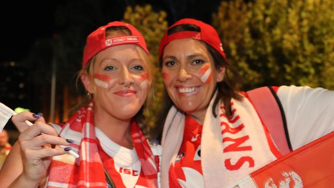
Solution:
{"label": "smiling dark-haired woman in backwards red cap and white scarf", "polygon": [[[248,94],[238,91],[237,72],[212,26],[189,18],[176,22],[162,37],[159,60],[168,93],[162,187],[226,187],[285,154]],[[334,91],[270,89],[284,110],[290,151],[334,130]]]}

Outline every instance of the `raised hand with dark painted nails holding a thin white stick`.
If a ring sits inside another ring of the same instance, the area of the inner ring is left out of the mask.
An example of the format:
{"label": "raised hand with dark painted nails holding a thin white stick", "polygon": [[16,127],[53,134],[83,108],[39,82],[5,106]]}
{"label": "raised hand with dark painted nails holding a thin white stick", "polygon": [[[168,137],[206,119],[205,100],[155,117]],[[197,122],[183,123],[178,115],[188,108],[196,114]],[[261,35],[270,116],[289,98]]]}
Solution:
{"label": "raised hand with dark painted nails holding a thin white stick", "polygon": [[[28,112],[30,113],[30,112]],[[58,137],[57,131],[47,125],[43,117],[30,118],[26,112],[13,117],[16,127],[20,127],[22,133],[18,137],[23,158],[23,172],[21,178],[31,182],[41,182],[45,178],[52,156],[63,155],[70,151],[70,147],[54,147],[51,145],[69,146],[72,140]],[[36,120],[37,119],[37,120]],[[25,120],[36,120],[31,126],[26,126]]]}

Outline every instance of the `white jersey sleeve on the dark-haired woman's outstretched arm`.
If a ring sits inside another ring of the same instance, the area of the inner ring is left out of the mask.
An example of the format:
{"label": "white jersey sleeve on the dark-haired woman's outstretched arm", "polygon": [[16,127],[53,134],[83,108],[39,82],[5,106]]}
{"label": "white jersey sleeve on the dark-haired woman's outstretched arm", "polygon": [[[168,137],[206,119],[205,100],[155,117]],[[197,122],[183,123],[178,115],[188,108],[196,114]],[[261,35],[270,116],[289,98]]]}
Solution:
{"label": "white jersey sleeve on the dark-haired woman's outstretched arm", "polygon": [[334,130],[334,91],[281,86],[277,96],[284,108],[293,150]]}

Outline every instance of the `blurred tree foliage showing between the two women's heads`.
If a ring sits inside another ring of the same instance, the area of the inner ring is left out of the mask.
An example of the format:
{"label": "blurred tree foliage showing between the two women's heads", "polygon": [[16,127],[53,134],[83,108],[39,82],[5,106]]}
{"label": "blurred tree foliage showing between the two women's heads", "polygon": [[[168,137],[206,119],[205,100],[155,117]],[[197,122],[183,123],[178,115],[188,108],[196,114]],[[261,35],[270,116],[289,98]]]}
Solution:
{"label": "blurred tree foliage showing between the two women's heads", "polygon": [[157,114],[160,111],[160,104],[163,95],[163,80],[158,63],[158,49],[160,39],[164,31],[168,28],[166,13],[164,11],[155,12],[151,5],[127,7],[124,13],[124,22],[134,25],[144,36],[147,48],[150,51],[150,59],[154,64],[154,98],[152,104],[147,106],[144,115],[147,124],[154,127],[157,121]]}

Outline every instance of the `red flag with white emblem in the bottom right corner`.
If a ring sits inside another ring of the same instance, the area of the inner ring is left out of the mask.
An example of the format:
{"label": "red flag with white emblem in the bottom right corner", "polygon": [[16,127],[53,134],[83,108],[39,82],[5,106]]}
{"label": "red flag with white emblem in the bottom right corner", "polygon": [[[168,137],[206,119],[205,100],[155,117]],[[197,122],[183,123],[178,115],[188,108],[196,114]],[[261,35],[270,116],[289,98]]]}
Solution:
{"label": "red flag with white emblem in the bottom right corner", "polygon": [[[334,132],[251,173],[257,187],[331,187]],[[302,186],[301,186],[302,185]]]}

